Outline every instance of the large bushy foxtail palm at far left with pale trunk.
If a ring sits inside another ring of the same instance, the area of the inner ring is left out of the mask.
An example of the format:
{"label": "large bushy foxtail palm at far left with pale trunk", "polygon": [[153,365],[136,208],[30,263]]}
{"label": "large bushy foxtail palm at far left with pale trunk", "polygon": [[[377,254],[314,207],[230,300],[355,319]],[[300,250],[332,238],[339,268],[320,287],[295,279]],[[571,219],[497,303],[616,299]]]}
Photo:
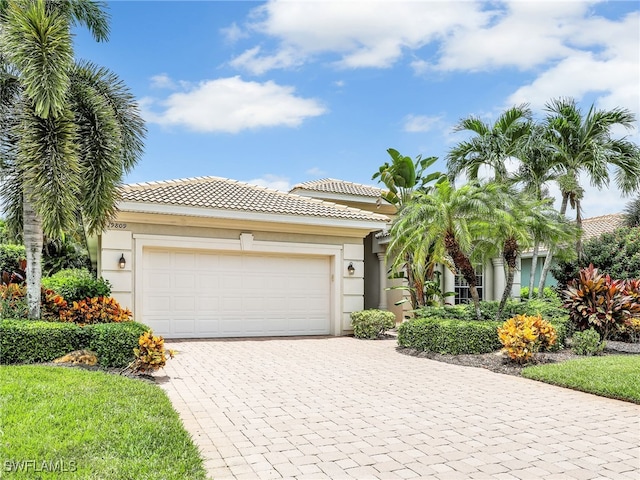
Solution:
{"label": "large bushy foxtail palm at far left with pale trunk", "polygon": [[102,41],[107,20],[89,0],[0,2],[0,168],[7,221],[27,251],[30,318],[40,317],[43,235],[78,221],[103,230],[142,154],[144,122],[126,86],[73,58],[71,25]]}

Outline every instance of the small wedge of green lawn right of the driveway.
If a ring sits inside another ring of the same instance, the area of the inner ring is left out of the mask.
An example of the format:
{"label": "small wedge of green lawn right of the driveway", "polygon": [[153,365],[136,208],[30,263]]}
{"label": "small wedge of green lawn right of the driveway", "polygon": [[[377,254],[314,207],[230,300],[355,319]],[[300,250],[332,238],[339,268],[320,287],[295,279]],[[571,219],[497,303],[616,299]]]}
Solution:
{"label": "small wedge of green lawn right of the driveway", "polygon": [[536,365],[522,376],[640,404],[640,355],[607,355]]}

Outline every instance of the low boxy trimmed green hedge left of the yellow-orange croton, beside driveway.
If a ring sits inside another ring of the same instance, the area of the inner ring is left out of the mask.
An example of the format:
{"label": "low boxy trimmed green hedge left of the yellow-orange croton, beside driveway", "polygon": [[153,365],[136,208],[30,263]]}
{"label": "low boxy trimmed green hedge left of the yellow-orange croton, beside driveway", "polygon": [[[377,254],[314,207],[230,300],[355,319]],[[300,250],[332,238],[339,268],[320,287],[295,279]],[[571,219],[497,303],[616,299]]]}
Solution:
{"label": "low boxy trimmed green hedge left of the yellow-orange croton, beside driveway", "polygon": [[417,318],[398,327],[398,344],[449,355],[489,353],[500,348],[500,322]]}

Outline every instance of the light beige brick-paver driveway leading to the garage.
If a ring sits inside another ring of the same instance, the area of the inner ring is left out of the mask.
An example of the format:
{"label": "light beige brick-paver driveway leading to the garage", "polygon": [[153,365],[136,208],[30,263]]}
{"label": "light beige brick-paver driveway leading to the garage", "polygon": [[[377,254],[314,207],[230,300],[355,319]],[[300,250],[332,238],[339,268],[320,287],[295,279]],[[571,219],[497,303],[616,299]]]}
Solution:
{"label": "light beige brick-paver driveway leading to the garage", "polygon": [[640,407],[348,337],[170,342],[216,479],[640,478]]}

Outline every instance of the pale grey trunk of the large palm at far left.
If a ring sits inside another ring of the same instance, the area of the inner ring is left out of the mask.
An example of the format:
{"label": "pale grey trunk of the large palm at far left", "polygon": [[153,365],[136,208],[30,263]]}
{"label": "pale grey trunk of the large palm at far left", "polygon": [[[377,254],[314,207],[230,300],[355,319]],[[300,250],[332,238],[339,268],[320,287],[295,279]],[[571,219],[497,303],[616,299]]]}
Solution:
{"label": "pale grey trunk of the large palm at far left", "polygon": [[40,289],[42,284],[42,222],[33,209],[28,195],[23,194],[24,246],[27,255],[27,305],[29,318],[40,318]]}

